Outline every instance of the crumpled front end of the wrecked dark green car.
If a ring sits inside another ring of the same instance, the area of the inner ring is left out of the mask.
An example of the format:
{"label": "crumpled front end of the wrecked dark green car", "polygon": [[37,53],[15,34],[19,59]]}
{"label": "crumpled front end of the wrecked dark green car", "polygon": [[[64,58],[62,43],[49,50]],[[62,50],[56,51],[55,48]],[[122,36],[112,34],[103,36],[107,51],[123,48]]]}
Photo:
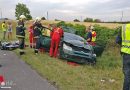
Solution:
{"label": "crumpled front end of the wrecked dark green car", "polygon": [[73,61],[76,63],[96,63],[96,55],[92,50],[85,47],[78,47],[70,43],[63,43],[63,48],[60,51],[62,58],[68,61]]}

